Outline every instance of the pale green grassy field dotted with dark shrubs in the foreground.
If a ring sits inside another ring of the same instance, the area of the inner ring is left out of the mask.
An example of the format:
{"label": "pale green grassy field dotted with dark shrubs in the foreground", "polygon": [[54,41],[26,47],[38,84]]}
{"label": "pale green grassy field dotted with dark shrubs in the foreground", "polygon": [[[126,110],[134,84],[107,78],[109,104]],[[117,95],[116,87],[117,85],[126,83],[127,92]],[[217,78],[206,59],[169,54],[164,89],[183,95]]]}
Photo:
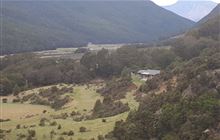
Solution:
{"label": "pale green grassy field dotted with dark shrubs in the foreground", "polygon": [[[47,88],[47,87],[46,87]],[[50,140],[50,132],[54,130],[57,134],[54,135],[53,139],[56,140],[60,136],[65,139],[73,139],[73,140],[89,140],[91,138],[97,139],[98,135],[105,135],[108,132],[112,131],[116,121],[125,120],[128,116],[129,112],[125,112],[113,117],[104,118],[106,122],[102,122],[103,118],[94,119],[94,120],[83,120],[80,122],[73,121],[71,118],[67,119],[53,119],[50,115],[60,114],[60,113],[70,113],[72,111],[78,111],[81,114],[90,114],[92,108],[97,99],[103,99],[100,94],[96,92],[96,89],[99,88],[96,85],[76,85],[73,87],[73,93],[66,93],[73,98],[73,101],[68,103],[64,109],[55,111],[47,106],[41,105],[31,105],[31,104],[14,104],[14,103],[6,103],[2,104],[1,108],[4,112],[4,118],[10,118],[11,121],[1,123],[1,129],[3,130],[12,130],[10,133],[6,134],[7,140],[15,140],[17,139],[17,134],[27,134],[27,130],[35,130],[36,138]],[[24,94],[29,94],[30,92],[36,92],[38,89],[27,91]],[[138,103],[134,100],[135,91],[128,92],[125,99],[122,99],[124,103],[128,103],[131,110],[137,109]],[[47,113],[43,114],[43,110],[47,110]],[[11,115],[12,114],[12,115]],[[25,114],[33,115],[30,118],[24,118]],[[8,115],[8,116],[7,116]],[[14,117],[11,117],[13,116]],[[1,115],[2,116],[2,115]],[[39,126],[39,122],[41,118],[48,118],[50,122],[56,121],[57,124],[62,126],[61,129],[57,129],[56,126],[50,126],[46,124],[46,126]],[[20,124],[21,127],[27,126],[28,128],[16,129],[16,126]],[[31,125],[36,125],[36,127],[30,128]],[[79,132],[80,127],[86,127],[86,132]],[[61,135],[64,131],[74,131],[74,136],[63,136]]]}

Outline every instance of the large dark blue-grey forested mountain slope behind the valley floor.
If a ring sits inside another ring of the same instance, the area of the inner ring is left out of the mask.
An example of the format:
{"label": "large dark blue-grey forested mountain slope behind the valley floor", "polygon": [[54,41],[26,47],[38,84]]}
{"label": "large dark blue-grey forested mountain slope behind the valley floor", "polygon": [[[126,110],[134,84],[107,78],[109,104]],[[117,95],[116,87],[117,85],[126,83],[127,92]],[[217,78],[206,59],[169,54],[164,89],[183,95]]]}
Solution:
{"label": "large dark blue-grey forested mountain slope behind the valley floor", "polygon": [[194,23],[150,1],[3,1],[3,53],[156,41]]}

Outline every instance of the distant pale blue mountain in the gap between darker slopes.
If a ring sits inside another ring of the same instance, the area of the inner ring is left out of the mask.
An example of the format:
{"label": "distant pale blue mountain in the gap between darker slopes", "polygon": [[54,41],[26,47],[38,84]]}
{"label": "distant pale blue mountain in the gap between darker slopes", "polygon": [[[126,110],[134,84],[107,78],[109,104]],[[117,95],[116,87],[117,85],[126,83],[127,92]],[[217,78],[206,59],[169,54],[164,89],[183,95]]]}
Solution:
{"label": "distant pale blue mountain in the gap between darker slopes", "polygon": [[164,8],[190,20],[199,21],[209,14],[216,5],[217,3],[211,1],[180,0],[176,4]]}

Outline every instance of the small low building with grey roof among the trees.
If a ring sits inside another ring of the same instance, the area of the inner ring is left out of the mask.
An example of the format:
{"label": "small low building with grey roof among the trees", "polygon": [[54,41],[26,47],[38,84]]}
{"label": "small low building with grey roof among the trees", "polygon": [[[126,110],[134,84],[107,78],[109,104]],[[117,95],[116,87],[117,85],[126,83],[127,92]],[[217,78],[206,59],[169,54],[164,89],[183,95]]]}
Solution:
{"label": "small low building with grey roof among the trees", "polygon": [[139,70],[137,74],[141,77],[142,80],[147,81],[152,79],[155,75],[160,74],[160,70]]}

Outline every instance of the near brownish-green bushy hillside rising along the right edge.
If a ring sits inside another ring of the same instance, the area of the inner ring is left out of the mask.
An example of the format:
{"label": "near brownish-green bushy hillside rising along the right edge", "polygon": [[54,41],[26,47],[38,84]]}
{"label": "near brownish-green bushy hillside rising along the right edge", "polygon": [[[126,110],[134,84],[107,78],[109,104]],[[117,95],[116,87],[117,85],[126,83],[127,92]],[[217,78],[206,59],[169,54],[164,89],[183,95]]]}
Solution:
{"label": "near brownish-green bushy hillside rising along the right edge", "polygon": [[140,87],[139,109],[117,122],[109,139],[220,139],[218,29],[216,17],[173,42],[175,61]]}

